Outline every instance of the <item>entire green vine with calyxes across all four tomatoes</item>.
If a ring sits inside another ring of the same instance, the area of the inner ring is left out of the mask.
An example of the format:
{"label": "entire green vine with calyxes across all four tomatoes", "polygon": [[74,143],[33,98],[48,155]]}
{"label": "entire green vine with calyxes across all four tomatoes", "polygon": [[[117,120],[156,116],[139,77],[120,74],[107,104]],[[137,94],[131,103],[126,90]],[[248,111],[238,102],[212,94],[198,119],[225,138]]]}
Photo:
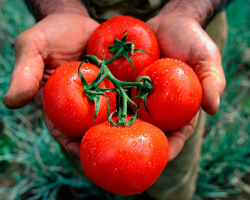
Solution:
{"label": "entire green vine with calyxes across all four tomatoes", "polygon": [[[96,56],[86,55],[78,68],[78,74],[81,79],[82,85],[84,87],[84,93],[91,101],[95,102],[95,115],[94,115],[95,119],[98,115],[99,108],[100,108],[100,95],[104,95],[105,97],[107,97],[104,94],[106,92],[116,92],[118,94],[119,105],[118,105],[117,123],[112,120],[113,114],[117,111],[109,114],[109,100],[108,100],[108,120],[110,124],[113,126],[131,126],[134,123],[134,121],[138,117],[140,98],[143,100],[143,104],[148,112],[147,105],[146,105],[146,97],[149,94],[150,90],[152,89],[151,79],[147,76],[140,77],[136,82],[124,82],[124,81],[120,81],[116,79],[107,67],[107,65],[113,62],[117,57],[124,56],[128,59],[128,61],[134,68],[132,60],[129,57],[129,53],[131,53],[132,55],[134,51],[141,52],[141,53],[148,53],[140,49],[134,49],[134,44],[131,42],[127,42],[127,36],[125,33],[121,40],[115,39],[114,45],[111,45],[109,47],[109,49],[114,52],[114,56],[111,59],[107,61],[105,60],[102,61]],[[92,64],[97,65],[100,68],[96,79],[90,84],[87,83],[87,81],[83,77],[83,74],[80,71],[80,68],[84,62],[87,62],[87,63],[90,62]],[[98,88],[99,84],[105,78],[109,79],[114,84],[115,89]],[[140,91],[140,93],[133,98],[133,99],[139,98],[138,106],[132,101],[132,99],[129,98],[129,96],[126,93],[127,89],[133,88],[133,87],[136,88],[137,91]],[[126,121],[127,103],[137,107],[134,116],[129,121]]]}

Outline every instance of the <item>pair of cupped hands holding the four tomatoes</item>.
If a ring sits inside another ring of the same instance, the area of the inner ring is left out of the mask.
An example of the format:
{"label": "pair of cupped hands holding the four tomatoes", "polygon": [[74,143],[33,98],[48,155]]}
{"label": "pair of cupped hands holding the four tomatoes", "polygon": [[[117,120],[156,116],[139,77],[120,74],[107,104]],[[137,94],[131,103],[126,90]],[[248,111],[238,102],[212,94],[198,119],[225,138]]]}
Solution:
{"label": "pair of cupped hands holding the four tomatoes", "polygon": [[[208,114],[215,114],[225,87],[221,56],[215,43],[195,19],[183,13],[160,12],[146,23],[155,33],[162,57],[182,60],[194,69],[202,85],[202,108]],[[16,109],[35,98],[52,137],[77,158],[80,139],[63,134],[50,122],[43,109],[42,90],[56,67],[81,60],[88,39],[98,26],[87,13],[61,11],[21,33],[15,43],[11,85],[3,99],[8,108]],[[198,115],[181,129],[167,133],[169,161],[194,133]]]}

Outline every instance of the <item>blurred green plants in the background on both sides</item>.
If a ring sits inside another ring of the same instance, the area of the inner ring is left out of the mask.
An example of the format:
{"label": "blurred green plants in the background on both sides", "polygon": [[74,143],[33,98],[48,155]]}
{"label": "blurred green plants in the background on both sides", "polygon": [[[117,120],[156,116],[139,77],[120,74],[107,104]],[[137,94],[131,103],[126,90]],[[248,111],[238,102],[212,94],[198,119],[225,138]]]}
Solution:
{"label": "blurred green plants in the background on both sides", "polygon": [[[227,86],[218,113],[207,118],[197,199],[250,199],[250,1],[235,0],[226,12]],[[0,99],[10,84],[15,39],[34,23],[22,0],[0,0]],[[74,173],[34,102],[9,110],[0,101],[0,199],[89,197],[125,199]]]}

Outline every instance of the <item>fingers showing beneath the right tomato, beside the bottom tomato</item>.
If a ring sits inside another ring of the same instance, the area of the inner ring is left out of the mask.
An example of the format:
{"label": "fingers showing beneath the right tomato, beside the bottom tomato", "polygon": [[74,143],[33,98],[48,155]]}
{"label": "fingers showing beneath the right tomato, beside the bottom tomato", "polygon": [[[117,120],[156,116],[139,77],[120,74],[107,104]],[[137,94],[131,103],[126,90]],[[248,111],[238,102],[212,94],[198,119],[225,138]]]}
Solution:
{"label": "fingers showing beneath the right tomato, beside the bottom tomato", "polygon": [[166,133],[169,143],[169,157],[168,161],[173,160],[181,152],[184,147],[185,141],[194,133],[197,125],[199,113],[181,129]]}

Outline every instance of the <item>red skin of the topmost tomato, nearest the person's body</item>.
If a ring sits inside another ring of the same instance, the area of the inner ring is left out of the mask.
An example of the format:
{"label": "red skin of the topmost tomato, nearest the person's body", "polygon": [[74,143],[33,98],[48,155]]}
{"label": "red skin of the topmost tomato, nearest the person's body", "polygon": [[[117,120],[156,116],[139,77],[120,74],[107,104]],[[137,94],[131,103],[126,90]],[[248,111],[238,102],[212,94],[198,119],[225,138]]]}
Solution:
{"label": "red skin of the topmost tomato, nearest the person's body", "polygon": [[134,52],[130,55],[134,64],[135,73],[132,66],[125,57],[119,57],[108,65],[111,73],[121,81],[135,81],[137,75],[148,65],[159,59],[159,46],[153,31],[139,19],[128,16],[113,17],[102,23],[90,36],[87,54],[97,56],[103,60],[113,57],[114,53],[109,50],[109,46],[114,44],[114,39],[121,39],[126,32],[127,38],[132,38],[135,49],[141,49],[150,53]]}

